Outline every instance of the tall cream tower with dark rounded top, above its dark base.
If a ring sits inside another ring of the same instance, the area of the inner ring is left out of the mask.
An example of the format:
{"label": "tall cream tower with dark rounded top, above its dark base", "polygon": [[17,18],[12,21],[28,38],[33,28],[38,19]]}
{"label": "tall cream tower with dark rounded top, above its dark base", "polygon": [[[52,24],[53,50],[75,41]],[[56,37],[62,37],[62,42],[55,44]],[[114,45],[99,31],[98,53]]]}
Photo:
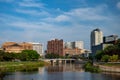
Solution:
{"label": "tall cream tower with dark rounded top, above its dark base", "polygon": [[91,46],[100,45],[103,43],[103,33],[100,29],[94,29],[91,32]]}

